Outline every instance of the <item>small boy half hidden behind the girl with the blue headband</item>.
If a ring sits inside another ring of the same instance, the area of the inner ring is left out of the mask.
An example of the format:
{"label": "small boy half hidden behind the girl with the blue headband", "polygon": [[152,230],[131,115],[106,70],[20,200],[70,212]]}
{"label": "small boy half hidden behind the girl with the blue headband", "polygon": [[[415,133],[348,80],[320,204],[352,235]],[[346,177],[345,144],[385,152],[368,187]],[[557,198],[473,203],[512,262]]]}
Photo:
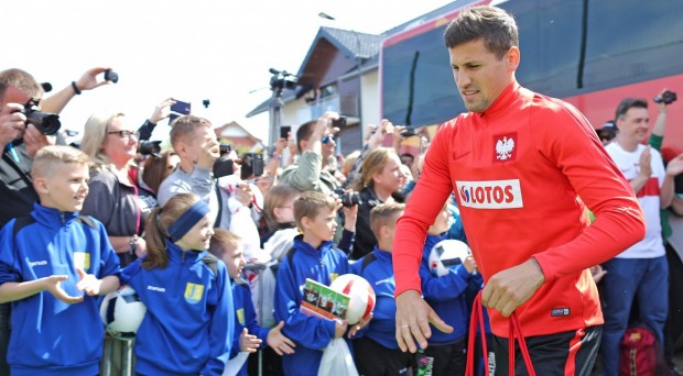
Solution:
{"label": "small boy half hidden behind the girl with the blue headband", "polygon": [[[232,341],[232,350],[230,351],[230,361],[241,362],[237,375],[247,376],[247,357],[237,357],[241,353],[256,353],[257,350],[265,347],[273,349],[278,355],[293,354],[294,342],[282,334],[284,321],[280,321],[274,328],[268,329],[257,323],[256,309],[251,300],[251,290],[249,283],[240,276],[245,268],[245,257],[242,251],[242,239],[234,232],[224,229],[214,229],[214,235],[208,251],[219,259],[221,259],[228,268],[228,275],[232,279],[232,299],[235,302],[235,335]],[[265,343],[263,343],[265,340]],[[238,366],[238,365],[237,365]],[[235,366],[235,368],[237,368]]]}

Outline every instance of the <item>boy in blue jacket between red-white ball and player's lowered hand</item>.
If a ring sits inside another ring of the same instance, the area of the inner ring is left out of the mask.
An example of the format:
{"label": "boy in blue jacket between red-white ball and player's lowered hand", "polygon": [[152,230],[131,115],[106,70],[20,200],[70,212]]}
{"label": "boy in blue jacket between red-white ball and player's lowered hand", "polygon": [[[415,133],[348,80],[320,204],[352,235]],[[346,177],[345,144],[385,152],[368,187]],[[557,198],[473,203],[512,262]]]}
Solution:
{"label": "boy in blue jacket between red-white ball and player's lowered hand", "polygon": [[399,349],[395,339],[395,284],[391,263],[395,224],[404,209],[403,203],[387,202],[370,211],[370,229],[377,245],[351,265],[351,272],[372,286],[377,298],[372,321],[354,340],[356,367],[361,375],[405,375],[410,366],[411,355]]}

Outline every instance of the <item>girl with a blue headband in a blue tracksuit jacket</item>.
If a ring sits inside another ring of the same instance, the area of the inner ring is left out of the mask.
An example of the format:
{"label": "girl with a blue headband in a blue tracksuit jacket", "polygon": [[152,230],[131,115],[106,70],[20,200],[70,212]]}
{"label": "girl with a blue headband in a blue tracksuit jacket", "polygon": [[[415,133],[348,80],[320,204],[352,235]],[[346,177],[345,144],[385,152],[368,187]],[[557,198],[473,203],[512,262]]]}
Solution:
{"label": "girl with a blue headband in a blue tracksuit jacket", "polygon": [[149,217],[148,253],[121,281],[147,306],[135,335],[138,375],[223,375],[235,313],[225,264],[208,254],[214,233],[208,206],[178,193]]}

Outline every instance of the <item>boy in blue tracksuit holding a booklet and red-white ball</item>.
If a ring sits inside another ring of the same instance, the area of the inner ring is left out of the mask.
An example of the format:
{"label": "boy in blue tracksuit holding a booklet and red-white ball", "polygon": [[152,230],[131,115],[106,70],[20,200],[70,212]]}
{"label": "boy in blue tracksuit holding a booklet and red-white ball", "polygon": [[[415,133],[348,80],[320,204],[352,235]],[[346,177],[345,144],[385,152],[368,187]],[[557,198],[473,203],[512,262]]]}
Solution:
{"label": "boy in blue tracksuit holding a booklet and red-white ball", "polygon": [[[291,254],[280,265],[274,296],[275,320],[285,322],[282,332],[296,343],[295,353],[282,357],[285,375],[317,375],[322,350],[347,330],[346,322],[300,311],[306,278],[329,286],[334,278],[349,273],[346,254],[332,241],[337,229],[337,206],[330,196],[315,191],[306,191],[294,201],[294,219],[303,234],[294,237]],[[346,218],[347,225],[350,220],[355,221],[355,217]]]}

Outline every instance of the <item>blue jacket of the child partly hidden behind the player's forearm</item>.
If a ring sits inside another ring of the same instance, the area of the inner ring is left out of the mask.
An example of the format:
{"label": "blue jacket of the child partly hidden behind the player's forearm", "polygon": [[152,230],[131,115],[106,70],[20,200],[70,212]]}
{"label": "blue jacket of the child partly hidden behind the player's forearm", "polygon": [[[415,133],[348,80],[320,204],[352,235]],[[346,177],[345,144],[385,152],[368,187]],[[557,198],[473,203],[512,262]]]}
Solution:
{"label": "blue jacket of the child partly hidden behind the player's forearm", "polygon": [[420,264],[420,278],[422,279],[422,295],[424,300],[434,309],[436,314],[447,324],[453,327],[452,333],[444,333],[432,325],[432,338],[429,343],[452,343],[467,334],[469,324],[469,309],[467,308],[466,290],[470,278],[478,278],[481,284],[481,275],[470,275],[464,265],[456,265],[451,273],[436,277],[430,270],[430,252],[436,243],[444,237],[427,235],[424,241],[422,263]]}

